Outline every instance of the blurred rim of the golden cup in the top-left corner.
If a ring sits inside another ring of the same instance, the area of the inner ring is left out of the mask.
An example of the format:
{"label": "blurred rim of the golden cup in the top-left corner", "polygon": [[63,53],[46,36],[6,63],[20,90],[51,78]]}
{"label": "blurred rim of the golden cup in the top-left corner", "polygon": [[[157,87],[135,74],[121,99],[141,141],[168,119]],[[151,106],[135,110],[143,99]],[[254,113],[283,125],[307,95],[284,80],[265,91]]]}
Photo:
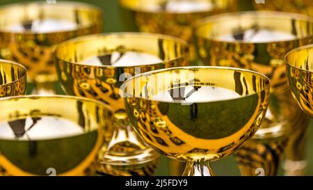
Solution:
{"label": "blurred rim of the golden cup in the top-left corner", "polygon": [[[55,4],[49,4],[45,1],[26,1],[26,2],[18,2],[18,3],[8,3],[5,4],[3,6],[0,6],[0,13],[3,10],[6,9],[10,9],[13,8],[15,6],[19,7],[19,6],[31,6],[31,5],[36,5],[36,6],[40,6],[40,7],[47,7],[47,6],[67,6],[67,5],[72,5],[72,7],[70,9],[72,10],[80,10],[80,9],[86,9],[88,10],[88,12],[90,13],[95,13],[95,15],[99,14],[102,15],[103,11],[101,8],[90,4],[90,3],[84,3],[84,2],[79,2],[79,1],[60,1],[58,3]],[[14,34],[14,35],[54,35],[54,34],[59,34],[59,33],[71,33],[74,31],[80,31],[83,29],[88,29],[90,27],[93,27],[97,25],[95,22],[91,22],[90,24],[86,24],[84,26],[79,26],[77,25],[77,27],[75,29],[69,30],[69,29],[65,29],[62,31],[51,31],[51,32],[35,32],[35,31],[22,31],[22,32],[15,32],[15,31],[10,31],[10,30],[6,30],[6,29],[1,29],[0,27],[0,33],[8,33],[8,34]]]}

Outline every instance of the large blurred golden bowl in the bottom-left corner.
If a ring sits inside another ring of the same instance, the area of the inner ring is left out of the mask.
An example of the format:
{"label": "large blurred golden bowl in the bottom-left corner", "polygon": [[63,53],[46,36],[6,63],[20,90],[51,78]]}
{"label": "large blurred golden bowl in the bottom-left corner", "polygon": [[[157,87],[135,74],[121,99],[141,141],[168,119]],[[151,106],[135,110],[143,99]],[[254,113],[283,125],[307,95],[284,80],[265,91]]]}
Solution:
{"label": "large blurred golden bowl in the bottom-left corner", "polygon": [[0,175],[93,175],[113,135],[109,106],[70,96],[5,97]]}

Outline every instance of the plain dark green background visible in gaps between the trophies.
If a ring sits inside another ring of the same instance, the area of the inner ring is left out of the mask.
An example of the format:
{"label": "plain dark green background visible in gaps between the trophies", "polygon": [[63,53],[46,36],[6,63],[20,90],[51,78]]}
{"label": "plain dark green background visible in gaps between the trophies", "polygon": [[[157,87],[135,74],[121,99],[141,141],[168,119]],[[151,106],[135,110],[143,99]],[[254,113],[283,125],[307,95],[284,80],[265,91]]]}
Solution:
{"label": "plain dark green background visible in gaps between the trophies", "polygon": [[[60,0],[56,0],[57,2]],[[76,0],[80,1],[80,0]],[[118,5],[118,0],[81,0],[86,3],[92,3],[95,6],[99,6],[104,11],[104,32],[120,32],[120,31],[135,31],[136,27],[131,26],[129,22],[122,20],[121,9]],[[149,0],[147,0],[149,1]],[[0,0],[0,5],[21,2],[17,0]],[[251,5],[249,0],[240,0],[239,9],[240,10],[250,10]],[[129,27],[130,26],[130,27]],[[30,90],[30,89],[28,89]],[[60,91],[60,93],[62,93]],[[310,122],[310,125],[313,125]],[[309,136],[313,136],[313,131],[310,127]],[[307,175],[313,175],[313,150],[310,149],[313,145],[313,138],[309,138],[307,143]],[[220,161],[214,161],[212,164],[216,175],[240,175],[239,169],[236,166],[234,157],[226,157]],[[161,163],[157,168],[156,175],[169,175],[169,162],[166,157],[161,157]],[[280,168],[279,175],[283,175],[282,169]]]}

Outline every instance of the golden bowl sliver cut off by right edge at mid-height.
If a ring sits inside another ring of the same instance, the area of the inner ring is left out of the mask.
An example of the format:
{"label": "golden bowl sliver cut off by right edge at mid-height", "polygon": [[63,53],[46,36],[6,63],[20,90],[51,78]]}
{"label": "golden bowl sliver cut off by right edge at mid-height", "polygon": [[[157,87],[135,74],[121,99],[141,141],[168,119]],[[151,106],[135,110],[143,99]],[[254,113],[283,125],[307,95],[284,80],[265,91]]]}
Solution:
{"label": "golden bowl sliver cut off by right edge at mid-height", "polygon": [[300,108],[313,117],[312,98],[313,45],[292,50],[286,55],[287,78],[294,99]]}

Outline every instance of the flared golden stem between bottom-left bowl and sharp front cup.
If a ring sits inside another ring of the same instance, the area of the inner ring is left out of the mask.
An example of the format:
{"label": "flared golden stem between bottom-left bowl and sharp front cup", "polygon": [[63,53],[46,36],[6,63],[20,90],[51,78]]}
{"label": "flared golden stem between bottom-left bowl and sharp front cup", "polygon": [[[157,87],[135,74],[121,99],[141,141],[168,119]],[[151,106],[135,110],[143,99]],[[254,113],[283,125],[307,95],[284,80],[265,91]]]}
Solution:
{"label": "flared golden stem between bottom-left bowl and sharp front cup", "polygon": [[153,175],[159,154],[136,134],[127,113],[120,111],[113,116],[114,132],[102,157],[99,174],[103,175]]}

